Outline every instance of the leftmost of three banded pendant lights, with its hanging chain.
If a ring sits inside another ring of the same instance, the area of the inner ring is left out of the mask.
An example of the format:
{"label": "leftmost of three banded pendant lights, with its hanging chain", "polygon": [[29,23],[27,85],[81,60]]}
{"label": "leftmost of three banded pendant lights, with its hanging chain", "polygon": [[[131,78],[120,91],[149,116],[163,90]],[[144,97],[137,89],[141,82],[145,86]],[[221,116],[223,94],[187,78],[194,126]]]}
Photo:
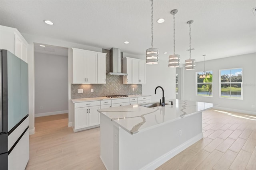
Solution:
{"label": "leftmost of three banded pendant lights, with its hanging chain", "polygon": [[151,0],[151,48],[146,50],[146,64],[158,64],[158,48],[153,48],[153,0]]}

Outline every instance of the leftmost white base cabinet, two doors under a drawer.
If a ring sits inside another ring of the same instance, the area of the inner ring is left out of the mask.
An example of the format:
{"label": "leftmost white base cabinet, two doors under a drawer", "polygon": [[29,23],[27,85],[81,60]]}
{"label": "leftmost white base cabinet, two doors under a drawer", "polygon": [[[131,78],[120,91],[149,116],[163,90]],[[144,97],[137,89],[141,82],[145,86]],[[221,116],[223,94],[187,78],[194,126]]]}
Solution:
{"label": "leftmost white base cabinet, two doors under a drawer", "polygon": [[74,104],[74,132],[100,126],[100,101]]}

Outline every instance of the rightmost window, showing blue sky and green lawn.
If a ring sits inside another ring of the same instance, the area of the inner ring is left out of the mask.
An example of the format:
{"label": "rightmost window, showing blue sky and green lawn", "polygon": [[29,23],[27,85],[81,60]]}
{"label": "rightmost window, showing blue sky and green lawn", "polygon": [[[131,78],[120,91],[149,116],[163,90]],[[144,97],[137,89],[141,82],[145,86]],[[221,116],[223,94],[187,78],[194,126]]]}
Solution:
{"label": "rightmost window, showing blue sky and green lawn", "polygon": [[220,70],[220,97],[243,99],[242,68]]}

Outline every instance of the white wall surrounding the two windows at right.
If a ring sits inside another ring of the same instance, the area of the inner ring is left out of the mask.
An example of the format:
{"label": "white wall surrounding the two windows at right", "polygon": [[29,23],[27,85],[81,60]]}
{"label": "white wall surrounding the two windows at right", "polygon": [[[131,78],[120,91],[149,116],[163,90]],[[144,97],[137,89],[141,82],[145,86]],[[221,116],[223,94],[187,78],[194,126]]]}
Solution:
{"label": "white wall surrounding the two windows at right", "polygon": [[[206,56],[207,57],[207,56]],[[206,58],[207,59],[207,58]],[[195,70],[184,70],[184,100],[196,100],[218,104],[218,108],[256,114],[256,53],[232,56],[205,62],[205,69],[213,71],[212,96],[196,96],[196,72],[203,71],[203,62],[196,63]],[[219,70],[243,68],[243,100],[219,97]]]}

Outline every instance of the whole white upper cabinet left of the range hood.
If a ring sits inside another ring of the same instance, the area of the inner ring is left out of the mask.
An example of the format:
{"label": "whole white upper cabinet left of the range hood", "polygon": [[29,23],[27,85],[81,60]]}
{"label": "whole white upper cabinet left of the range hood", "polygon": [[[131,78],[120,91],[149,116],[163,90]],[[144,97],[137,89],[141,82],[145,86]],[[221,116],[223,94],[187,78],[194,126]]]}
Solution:
{"label": "whole white upper cabinet left of the range hood", "polygon": [[72,48],[73,84],[105,84],[106,53]]}

